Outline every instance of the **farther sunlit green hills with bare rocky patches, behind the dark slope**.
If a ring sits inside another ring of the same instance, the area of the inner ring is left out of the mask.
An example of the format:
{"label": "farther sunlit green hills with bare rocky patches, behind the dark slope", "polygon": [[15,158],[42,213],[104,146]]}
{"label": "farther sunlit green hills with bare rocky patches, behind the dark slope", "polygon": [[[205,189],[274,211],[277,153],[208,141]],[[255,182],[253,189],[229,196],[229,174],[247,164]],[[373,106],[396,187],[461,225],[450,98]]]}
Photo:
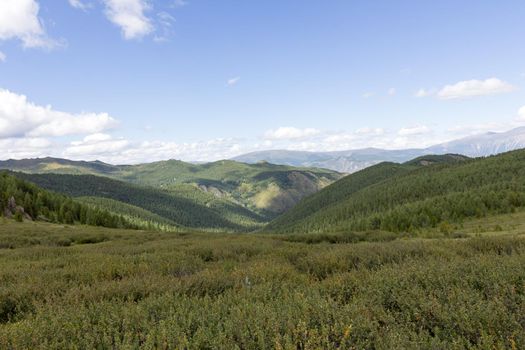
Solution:
{"label": "farther sunlit green hills with bare rocky patches, behind the dark slope", "polygon": [[42,158],[3,161],[0,168],[26,173],[99,175],[172,191],[180,189],[180,185],[191,184],[201,192],[240,204],[267,218],[276,217],[303,197],[342,177],[340,173],[324,169],[228,160],[207,164],[168,160],[110,165]]}

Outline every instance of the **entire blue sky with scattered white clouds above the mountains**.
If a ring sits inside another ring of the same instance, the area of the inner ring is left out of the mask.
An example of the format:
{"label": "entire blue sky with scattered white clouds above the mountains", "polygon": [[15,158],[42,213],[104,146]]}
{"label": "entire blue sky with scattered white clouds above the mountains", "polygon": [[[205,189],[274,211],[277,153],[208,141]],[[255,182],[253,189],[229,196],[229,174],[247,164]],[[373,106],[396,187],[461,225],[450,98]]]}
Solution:
{"label": "entire blue sky with scattered white clouds above the mountains", "polygon": [[525,126],[522,0],[0,0],[0,158],[212,161]]}

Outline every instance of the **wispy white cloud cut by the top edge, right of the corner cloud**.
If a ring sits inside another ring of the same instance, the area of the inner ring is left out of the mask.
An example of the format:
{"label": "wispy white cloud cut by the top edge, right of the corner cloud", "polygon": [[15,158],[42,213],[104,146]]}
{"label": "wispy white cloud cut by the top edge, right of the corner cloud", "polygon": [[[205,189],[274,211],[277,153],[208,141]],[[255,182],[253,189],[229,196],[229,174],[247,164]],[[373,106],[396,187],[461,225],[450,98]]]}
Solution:
{"label": "wispy white cloud cut by the top edge, right of the corner cloud", "polygon": [[106,17],[119,26],[125,39],[140,39],[155,30],[145,15],[150,9],[146,0],[103,0]]}

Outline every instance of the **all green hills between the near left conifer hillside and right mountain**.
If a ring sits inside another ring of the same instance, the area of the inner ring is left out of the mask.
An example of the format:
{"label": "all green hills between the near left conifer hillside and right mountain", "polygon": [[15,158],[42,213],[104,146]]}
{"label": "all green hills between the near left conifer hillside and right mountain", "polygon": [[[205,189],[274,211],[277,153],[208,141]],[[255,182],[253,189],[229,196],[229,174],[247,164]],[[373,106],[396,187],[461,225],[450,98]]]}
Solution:
{"label": "all green hills between the near left conifer hillside and right mountain", "polygon": [[18,178],[163,228],[247,231],[343,176],[317,168],[222,160],[138,165],[36,158],[0,161]]}

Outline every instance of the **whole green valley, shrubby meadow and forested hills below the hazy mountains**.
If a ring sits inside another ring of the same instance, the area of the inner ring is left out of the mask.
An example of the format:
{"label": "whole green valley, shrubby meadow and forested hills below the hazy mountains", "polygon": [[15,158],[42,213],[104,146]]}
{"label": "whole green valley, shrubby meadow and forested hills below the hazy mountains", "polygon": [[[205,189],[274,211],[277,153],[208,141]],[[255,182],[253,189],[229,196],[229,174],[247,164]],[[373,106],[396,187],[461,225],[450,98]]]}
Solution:
{"label": "whole green valley, shrubby meadow and forested hills below the hazy mountains", "polygon": [[[525,344],[525,150],[338,180],[268,163],[57,163],[0,178],[0,348]],[[243,186],[260,201],[303,192],[267,214],[235,199]]]}

